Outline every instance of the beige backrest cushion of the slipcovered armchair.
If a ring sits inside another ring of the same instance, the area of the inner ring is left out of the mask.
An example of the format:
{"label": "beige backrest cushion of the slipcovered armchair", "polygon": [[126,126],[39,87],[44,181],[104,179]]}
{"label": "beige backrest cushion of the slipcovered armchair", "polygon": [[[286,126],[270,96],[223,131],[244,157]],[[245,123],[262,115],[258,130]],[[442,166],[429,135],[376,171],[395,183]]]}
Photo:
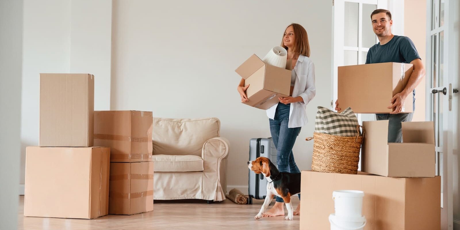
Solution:
{"label": "beige backrest cushion of the slipcovered armchair", "polygon": [[[203,144],[219,137],[217,118],[153,118],[153,155],[196,155],[201,157]],[[155,164],[156,167],[156,164]]]}

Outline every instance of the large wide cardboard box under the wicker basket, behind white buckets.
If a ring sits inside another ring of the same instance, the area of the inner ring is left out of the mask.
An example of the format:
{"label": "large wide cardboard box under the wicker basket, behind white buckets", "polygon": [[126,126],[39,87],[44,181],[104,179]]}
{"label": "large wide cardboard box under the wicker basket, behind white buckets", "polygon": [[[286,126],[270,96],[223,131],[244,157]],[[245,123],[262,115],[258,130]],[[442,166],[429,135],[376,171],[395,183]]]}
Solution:
{"label": "large wide cardboard box under the wicker basket, behind white buckets", "polygon": [[391,178],[302,171],[300,230],[330,229],[334,190],[364,191],[364,230],[440,230],[441,177]]}

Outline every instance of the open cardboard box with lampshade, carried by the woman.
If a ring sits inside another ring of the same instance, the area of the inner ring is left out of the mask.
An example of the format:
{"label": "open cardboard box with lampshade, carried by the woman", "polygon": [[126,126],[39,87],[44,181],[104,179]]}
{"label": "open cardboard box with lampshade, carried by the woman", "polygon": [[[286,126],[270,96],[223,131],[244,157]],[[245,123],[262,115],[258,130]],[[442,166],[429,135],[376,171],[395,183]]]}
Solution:
{"label": "open cardboard box with lampshade, carried by the woman", "polygon": [[[289,63],[289,62],[287,62]],[[245,79],[248,102],[244,104],[259,109],[269,109],[280,102],[278,98],[288,97],[291,87],[291,70],[265,64],[253,54],[236,70]]]}

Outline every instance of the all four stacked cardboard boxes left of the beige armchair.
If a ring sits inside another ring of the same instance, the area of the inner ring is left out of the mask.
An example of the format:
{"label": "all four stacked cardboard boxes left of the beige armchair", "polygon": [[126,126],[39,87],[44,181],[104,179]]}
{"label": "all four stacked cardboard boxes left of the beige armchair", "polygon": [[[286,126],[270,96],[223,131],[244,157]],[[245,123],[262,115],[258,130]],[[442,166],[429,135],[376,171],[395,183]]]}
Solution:
{"label": "all four stacked cardboard boxes left of the beige armchair", "polygon": [[40,74],[40,147],[26,149],[24,216],[152,211],[152,123],[152,112],[94,111],[93,75]]}

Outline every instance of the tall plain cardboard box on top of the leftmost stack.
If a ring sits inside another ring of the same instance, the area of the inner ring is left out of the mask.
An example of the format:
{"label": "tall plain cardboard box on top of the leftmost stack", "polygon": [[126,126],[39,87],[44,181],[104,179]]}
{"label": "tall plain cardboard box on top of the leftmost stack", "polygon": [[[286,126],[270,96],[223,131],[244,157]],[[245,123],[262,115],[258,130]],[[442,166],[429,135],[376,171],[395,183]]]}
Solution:
{"label": "tall plain cardboard box on top of the leftmost stack", "polygon": [[40,74],[40,146],[92,146],[93,111],[93,75]]}

